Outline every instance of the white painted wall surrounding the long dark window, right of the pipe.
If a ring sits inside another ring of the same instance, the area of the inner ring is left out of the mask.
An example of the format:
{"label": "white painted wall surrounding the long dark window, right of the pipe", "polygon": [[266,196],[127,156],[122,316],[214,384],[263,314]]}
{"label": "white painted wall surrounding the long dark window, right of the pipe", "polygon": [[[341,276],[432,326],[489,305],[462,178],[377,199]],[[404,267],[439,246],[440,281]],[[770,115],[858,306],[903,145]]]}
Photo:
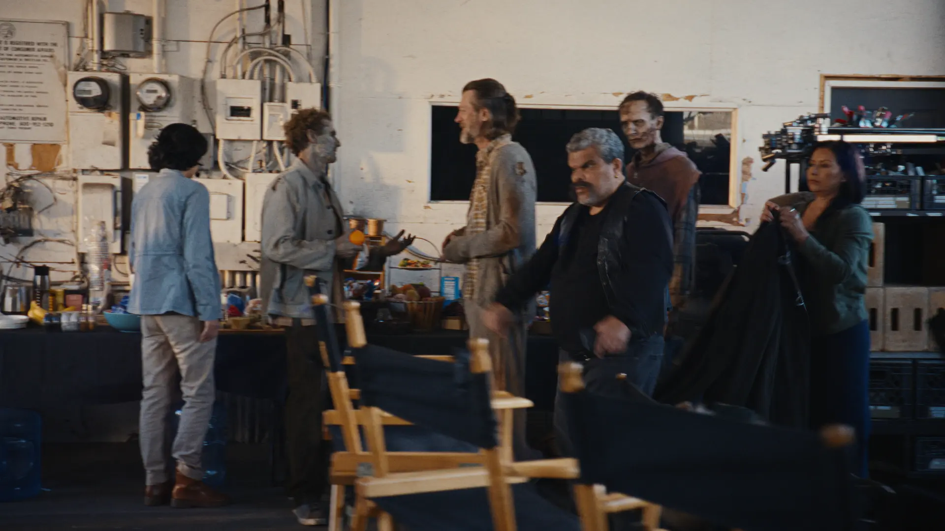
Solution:
{"label": "white painted wall surrounding the long dark window, right of the pipe", "polygon": [[[942,0],[342,4],[338,188],[354,212],[435,242],[467,207],[427,200],[429,107],[478,77],[528,105],[614,108],[643,89],[737,108],[734,159],[756,161],[742,210],[753,227],[783,187],[782,163],[761,171],[761,135],[816,111],[820,74],[945,74]],[[539,206],[540,238],[561,210]]]}

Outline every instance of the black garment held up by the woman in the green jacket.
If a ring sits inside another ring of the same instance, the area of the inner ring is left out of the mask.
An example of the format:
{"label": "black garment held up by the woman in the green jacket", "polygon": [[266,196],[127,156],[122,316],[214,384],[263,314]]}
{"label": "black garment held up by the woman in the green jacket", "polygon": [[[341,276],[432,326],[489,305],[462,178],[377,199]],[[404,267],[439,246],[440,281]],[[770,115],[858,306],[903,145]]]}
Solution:
{"label": "black garment held up by the woman in the green jacket", "polygon": [[778,224],[765,223],[654,397],[744,406],[774,424],[806,428],[809,371],[810,330],[790,246]]}

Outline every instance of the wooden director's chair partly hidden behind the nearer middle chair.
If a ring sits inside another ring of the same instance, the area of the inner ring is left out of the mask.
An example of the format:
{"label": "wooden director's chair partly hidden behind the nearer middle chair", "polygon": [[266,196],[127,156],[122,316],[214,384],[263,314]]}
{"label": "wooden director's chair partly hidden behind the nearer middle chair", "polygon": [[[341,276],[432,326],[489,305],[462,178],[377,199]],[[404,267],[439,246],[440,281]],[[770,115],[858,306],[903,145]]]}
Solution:
{"label": "wooden director's chair partly hidden behind the nearer middle chair", "polygon": [[[306,277],[305,283],[312,297],[312,311],[318,323],[316,325],[319,336],[318,350],[322,363],[327,368],[328,385],[332,402],[335,404],[335,409],[324,412],[323,423],[332,432],[331,438],[335,446],[329,473],[331,499],[328,528],[329,531],[336,531],[340,529],[343,521],[344,488],[352,486],[359,471],[371,462],[370,454],[364,450],[365,440],[360,429],[369,422],[369,419],[364,411],[355,408],[354,401],[360,399],[360,391],[350,388],[344,370],[345,366],[354,364],[354,358],[342,356],[335,336],[335,328],[322,324],[332,322],[329,317],[327,296],[320,293],[318,279],[315,276]],[[360,314],[360,305],[349,301],[344,307],[349,346],[354,349],[366,346],[367,336]],[[454,361],[453,356],[445,355],[417,357],[436,360],[438,363]],[[512,411],[531,407],[532,403],[504,391],[493,393],[491,402],[493,407],[502,412],[502,452],[511,456]],[[388,467],[391,471],[451,469],[483,463],[482,457],[478,454],[478,448],[469,443],[431,432],[387,413],[381,414],[379,421],[384,426],[383,430],[388,440],[395,442],[396,451],[391,452],[388,459]],[[396,444],[397,442],[400,444]],[[382,519],[387,519],[387,517],[382,516]]]}

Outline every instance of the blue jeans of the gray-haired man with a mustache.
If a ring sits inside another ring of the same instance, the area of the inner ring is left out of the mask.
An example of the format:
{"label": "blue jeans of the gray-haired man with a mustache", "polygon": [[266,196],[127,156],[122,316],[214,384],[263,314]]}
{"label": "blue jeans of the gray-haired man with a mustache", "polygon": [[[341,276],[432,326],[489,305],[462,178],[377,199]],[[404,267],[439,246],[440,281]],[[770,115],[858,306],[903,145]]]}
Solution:
{"label": "blue jeans of the gray-haired man with a mustache", "polygon": [[[662,368],[662,335],[651,335],[645,339],[631,341],[627,351],[604,358],[593,357],[584,362],[584,385],[588,392],[598,395],[626,397],[627,384],[635,385],[646,396],[653,395],[657,378]],[[558,361],[575,361],[566,351],[558,352]],[[617,374],[626,374],[627,378],[617,379]],[[561,407],[561,388],[555,395],[555,440],[558,452],[564,456],[574,456],[574,449],[568,437],[568,422],[564,408]]]}

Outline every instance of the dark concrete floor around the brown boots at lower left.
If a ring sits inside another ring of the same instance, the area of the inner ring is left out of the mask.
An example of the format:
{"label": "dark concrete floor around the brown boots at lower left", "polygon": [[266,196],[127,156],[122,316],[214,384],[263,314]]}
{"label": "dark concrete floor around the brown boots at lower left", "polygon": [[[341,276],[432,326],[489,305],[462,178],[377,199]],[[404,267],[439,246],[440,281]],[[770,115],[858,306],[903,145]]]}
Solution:
{"label": "dark concrete floor around the brown boots at lower left", "polygon": [[[271,486],[266,446],[228,448],[224,491],[232,505],[214,509],[146,507],[137,443],[43,447],[43,488],[36,498],[0,504],[0,529],[305,529],[282,488]],[[321,529],[321,527],[307,528]]]}

